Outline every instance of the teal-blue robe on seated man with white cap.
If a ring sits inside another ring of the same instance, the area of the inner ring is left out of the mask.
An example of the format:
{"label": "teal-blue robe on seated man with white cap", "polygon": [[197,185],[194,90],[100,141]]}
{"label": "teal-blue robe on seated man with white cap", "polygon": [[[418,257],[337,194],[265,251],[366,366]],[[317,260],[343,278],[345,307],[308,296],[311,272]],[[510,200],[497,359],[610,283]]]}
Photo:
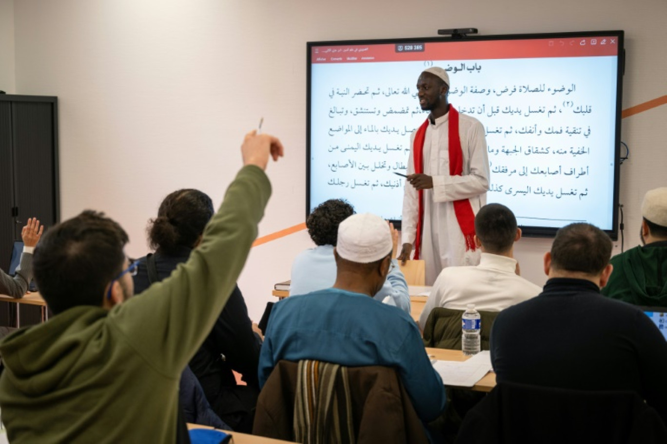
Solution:
{"label": "teal-blue robe on seated man with white cap", "polygon": [[445,387],[417,324],[365,294],[329,288],[275,304],[259,354],[259,387],[281,359],[395,367],[422,421],[446,407]]}

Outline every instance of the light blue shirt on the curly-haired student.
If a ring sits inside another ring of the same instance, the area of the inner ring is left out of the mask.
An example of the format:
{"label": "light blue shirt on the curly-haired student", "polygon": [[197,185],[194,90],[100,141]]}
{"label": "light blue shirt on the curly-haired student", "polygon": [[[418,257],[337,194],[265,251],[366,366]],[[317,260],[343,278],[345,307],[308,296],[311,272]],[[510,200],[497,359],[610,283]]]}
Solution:
{"label": "light blue shirt on the curly-haired student", "polygon": [[[384,285],[373,298],[383,302],[389,296],[386,304],[397,306],[410,314],[410,294],[408,283],[398,266],[398,261],[392,259],[394,270],[387,275]],[[297,256],[292,264],[289,295],[307,294],[331,288],[336,282],[336,258],[333,257],[333,246],[322,245],[309,248]]]}

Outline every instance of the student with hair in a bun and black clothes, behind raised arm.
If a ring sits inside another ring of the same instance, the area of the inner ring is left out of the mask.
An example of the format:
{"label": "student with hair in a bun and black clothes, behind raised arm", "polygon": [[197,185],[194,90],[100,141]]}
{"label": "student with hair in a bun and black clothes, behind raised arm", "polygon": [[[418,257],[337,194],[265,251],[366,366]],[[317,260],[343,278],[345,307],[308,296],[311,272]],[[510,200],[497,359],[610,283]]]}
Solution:
{"label": "student with hair in a bun and black clothes, behind raised arm", "polygon": [[[147,229],[151,248],[134,276],[139,293],[167,278],[190,256],[213,216],[211,198],[199,190],[177,190],[161,203]],[[257,364],[261,339],[253,333],[241,290],[236,286],[213,329],[189,363],[213,411],[233,430],[249,432],[259,395]],[[237,385],[232,371],[247,385]]]}

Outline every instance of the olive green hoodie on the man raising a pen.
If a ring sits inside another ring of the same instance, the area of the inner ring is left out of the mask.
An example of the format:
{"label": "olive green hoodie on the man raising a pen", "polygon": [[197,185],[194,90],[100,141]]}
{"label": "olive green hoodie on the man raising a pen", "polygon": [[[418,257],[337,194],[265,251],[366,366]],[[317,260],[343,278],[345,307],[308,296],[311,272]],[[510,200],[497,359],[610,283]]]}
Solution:
{"label": "olive green hoodie on the man raising a pen", "polygon": [[270,194],[264,172],[245,166],[171,277],[111,310],[71,308],[5,338],[9,441],[173,443],[181,372],[227,302]]}

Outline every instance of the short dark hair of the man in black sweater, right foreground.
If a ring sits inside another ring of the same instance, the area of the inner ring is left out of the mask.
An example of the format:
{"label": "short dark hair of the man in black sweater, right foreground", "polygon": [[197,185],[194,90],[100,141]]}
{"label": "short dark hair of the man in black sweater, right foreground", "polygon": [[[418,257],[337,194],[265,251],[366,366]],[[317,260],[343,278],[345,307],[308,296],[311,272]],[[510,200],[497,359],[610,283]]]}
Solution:
{"label": "short dark hair of the man in black sweater, right foreground", "polygon": [[554,270],[581,272],[596,276],[609,264],[612,240],[591,224],[570,224],[556,232],[551,246]]}

